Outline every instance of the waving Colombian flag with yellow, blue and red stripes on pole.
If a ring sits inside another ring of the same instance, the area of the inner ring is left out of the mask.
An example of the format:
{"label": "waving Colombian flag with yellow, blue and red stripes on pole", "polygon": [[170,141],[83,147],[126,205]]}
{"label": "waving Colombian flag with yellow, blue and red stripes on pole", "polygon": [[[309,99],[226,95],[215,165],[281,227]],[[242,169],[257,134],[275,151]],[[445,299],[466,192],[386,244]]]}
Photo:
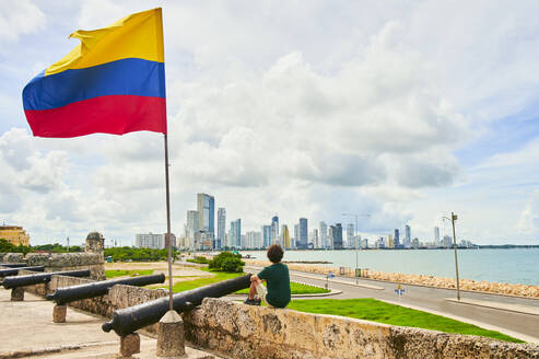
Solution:
{"label": "waving Colombian flag with yellow, blue and red stripes on pole", "polygon": [[166,134],[161,9],[70,37],[79,38],[79,46],[24,88],[34,136]]}

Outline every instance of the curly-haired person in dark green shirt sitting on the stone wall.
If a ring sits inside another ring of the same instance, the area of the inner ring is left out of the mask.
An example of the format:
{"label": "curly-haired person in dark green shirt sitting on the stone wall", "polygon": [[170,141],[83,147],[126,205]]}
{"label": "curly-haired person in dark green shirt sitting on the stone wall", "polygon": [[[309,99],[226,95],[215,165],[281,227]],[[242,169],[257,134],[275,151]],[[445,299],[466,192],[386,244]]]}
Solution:
{"label": "curly-haired person in dark green shirt sitting on the stone wall", "polygon": [[[290,275],[289,267],[281,263],[283,254],[279,244],[269,246],[267,255],[272,264],[250,277],[249,298],[245,300],[245,304],[260,305],[261,300],[274,308],[284,308],[289,304]],[[262,281],[268,283],[267,290]],[[258,298],[255,298],[256,294]]]}

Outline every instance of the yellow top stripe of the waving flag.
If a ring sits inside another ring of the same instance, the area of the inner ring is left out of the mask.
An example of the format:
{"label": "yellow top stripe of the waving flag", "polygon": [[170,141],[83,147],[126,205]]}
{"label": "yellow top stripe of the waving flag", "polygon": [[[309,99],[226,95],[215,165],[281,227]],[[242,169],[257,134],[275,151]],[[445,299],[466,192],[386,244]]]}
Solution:
{"label": "yellow top stripe of the waving flag", "polygon": [[161,8],[131,14],[104,28],[79,30],[69,37],[81,44],[49,66],[45,76],[126,58],[164,62]]}

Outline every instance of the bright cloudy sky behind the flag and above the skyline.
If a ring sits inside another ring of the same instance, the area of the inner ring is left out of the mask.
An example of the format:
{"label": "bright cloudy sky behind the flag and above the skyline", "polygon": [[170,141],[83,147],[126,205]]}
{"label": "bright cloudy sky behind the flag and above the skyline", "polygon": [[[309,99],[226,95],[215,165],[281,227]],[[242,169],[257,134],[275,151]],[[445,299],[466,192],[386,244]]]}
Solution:
{"label": "bright cloudy sky behind the flag and above the skyline", "polygon": [[163,8],[173,232],[196,194],[259,230],[443,216],[539,242],[537,1],[2,1],[0,222],[33,244],[164,232],[163,138],[32,136],[21,93],[93,30]]}

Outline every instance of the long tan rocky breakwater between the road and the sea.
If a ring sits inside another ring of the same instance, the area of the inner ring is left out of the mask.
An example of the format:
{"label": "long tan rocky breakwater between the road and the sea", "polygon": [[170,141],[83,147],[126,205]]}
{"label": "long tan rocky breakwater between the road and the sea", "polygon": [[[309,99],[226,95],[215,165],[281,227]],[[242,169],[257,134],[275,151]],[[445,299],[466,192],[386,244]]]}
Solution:
{"label": "long tan rocky breakwater between the road and the sea", "polygon": [[[249,265],[255,265],[255,266],[269,265],[268,262],[263,262],[263,260],[245,259],[245,262]],[[332,270],[333,274],[336,275],[339,274],[338,267],[323,267],[323,266],[303,265],[303,264],[288,264],[288,266],[290,269],[293,270],[316,273],[320,275],[327,275],[329,270]],[[353,271],[348,270],[344,277],[353,277]],[[362,269],[361,277],[367,279],[374,279],[374,280],[402,283],[402,285],[417,285],[417,286],[445,288],[445,289],[456,288],[455,278],[443,278],[443,277],[434,277],[434,276],[425,276],[425,275],[407,275],[401,273],[385,273],[385,271],[366,270],[366,269]],[[460,279],[460,289],[539,299],[539,286],[512,285],[512,283],[492,282],[485,280],[477,281],[472,279]]]}

